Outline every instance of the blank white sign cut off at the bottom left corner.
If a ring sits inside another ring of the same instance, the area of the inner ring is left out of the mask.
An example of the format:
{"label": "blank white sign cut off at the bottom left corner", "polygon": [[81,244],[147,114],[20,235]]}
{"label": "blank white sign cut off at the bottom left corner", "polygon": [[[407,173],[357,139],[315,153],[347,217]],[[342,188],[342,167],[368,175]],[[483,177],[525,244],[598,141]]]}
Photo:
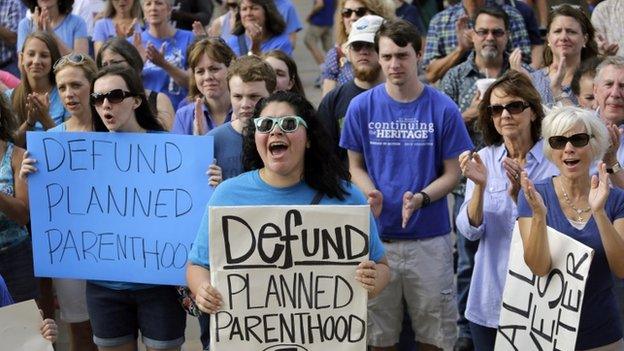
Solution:
{"label": "blank white sign cut off at the bottom left corner", "polygon": [[0,349],[53,351],[52,343],[41,335],[39,328],[42,325],[43,319],[35,300],[0,308]]}

